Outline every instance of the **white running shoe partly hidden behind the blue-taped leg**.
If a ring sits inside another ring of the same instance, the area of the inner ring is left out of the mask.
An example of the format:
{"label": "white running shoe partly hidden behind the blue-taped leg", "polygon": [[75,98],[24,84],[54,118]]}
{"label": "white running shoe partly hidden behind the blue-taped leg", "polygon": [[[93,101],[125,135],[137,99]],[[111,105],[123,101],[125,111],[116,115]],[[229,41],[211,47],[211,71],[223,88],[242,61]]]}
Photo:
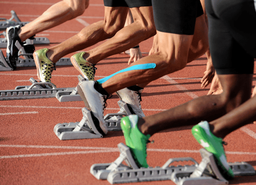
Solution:
{"label": "white running shoe partly hidden behind the blue-taped leg", "polygon": [[128,107],[131,108],[131,112],[133,114],[136,114],[140,117],[145,117],[145,114],[143,113],[140,104],[141,93],[143,89],[135,90],[134,87],[137,86],[124,88],[122,90],[117,91],[116,94],[119,96],[120,100],[128,104]]}

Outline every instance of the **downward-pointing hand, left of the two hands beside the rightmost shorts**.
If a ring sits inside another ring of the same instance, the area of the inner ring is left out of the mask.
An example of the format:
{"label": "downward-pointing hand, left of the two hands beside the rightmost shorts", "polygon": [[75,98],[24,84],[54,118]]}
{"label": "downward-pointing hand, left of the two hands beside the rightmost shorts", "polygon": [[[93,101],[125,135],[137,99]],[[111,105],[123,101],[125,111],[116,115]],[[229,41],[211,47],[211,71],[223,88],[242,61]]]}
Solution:
{"label": "downward-pointing hand, left of the two hands beside the rightmost shorts", "polygon": [[214,66],[212,64],[212,61],[208,59],[207,65],[206,65],[206,71],[204,72],[204,77],[201,79],[201,88],[204,89],[207,87],[211,82],[215,73]]}

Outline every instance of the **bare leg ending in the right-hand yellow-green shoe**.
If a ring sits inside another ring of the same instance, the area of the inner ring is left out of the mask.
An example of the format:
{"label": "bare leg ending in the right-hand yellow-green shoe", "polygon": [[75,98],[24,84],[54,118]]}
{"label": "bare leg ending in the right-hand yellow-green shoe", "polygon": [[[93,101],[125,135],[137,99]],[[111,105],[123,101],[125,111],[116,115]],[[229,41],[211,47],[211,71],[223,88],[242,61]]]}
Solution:
{"label": "bare leg ending in the right-hand yellow-green shoe", "polygon": [[113,38],[84,54],[84,59],[92,64],[136,46],[141,41],[155,35],[152,6],[131,8],[134,23],[125,26]]}

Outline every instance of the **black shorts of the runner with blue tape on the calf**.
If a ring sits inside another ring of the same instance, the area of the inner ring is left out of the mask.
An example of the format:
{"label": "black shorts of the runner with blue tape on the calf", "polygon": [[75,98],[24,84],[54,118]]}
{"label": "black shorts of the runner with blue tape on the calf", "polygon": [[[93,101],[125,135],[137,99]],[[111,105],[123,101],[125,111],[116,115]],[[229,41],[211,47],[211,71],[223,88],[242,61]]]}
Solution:
{"label": "black shorts of the runner with blue tape on the calf", "polygon": [[200,0],[152,0],[157,31],[194,35],[196,17],[204,14]]}

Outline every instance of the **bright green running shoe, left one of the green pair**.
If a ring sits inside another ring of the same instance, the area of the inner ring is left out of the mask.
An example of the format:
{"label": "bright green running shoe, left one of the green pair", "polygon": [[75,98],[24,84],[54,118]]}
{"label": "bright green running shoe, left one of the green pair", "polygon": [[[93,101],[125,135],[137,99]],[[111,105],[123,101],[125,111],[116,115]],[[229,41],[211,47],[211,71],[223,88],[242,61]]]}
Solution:
{"label": "bright green running shoe, left one of the green pair", "polygon": [[125,143],[131,148],[131,153],[138,167],[148,168],[146,157],[150,135],[145,136],[141,133],[137,123],[137,115],[126,116],[121,119],[121,128],[125,136]]}

